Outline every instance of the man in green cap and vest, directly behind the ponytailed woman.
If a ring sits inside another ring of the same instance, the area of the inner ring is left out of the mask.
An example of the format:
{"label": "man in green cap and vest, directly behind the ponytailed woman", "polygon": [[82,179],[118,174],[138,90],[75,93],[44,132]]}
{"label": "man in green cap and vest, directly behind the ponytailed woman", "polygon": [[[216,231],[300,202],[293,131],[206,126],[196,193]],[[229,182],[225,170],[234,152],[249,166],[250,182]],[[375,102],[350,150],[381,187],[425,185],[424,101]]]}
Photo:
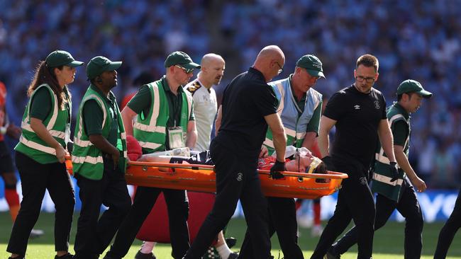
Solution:
{"label": "man in green cap and vest, directly behind the ponytailed woman", "polygon": [[[91,84],[80,104],[72,151],[82,200],[74,246],[77,259],[99,258],[131,205],[124,177],[126,134],[111,92],[121,64],[99,56],[87,65]],[[101,205],[109,209],[99,217]]]}

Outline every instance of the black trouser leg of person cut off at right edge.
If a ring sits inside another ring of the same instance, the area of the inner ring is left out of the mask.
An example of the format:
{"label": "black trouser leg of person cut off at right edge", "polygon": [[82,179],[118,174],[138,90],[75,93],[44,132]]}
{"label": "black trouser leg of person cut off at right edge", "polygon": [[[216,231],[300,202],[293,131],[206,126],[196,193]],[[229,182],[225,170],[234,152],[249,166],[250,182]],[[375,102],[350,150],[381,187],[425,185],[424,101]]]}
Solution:
{"label": "black trouser leg of person cut off at right edge", "polygon": [[448,248],[455,237],[456,232],[461,227],[461,189],[458,193],[455,208],[443,225],[440,234],[438,234],[437,248],[435,248],[434,259],[443,259],[447,256]]}

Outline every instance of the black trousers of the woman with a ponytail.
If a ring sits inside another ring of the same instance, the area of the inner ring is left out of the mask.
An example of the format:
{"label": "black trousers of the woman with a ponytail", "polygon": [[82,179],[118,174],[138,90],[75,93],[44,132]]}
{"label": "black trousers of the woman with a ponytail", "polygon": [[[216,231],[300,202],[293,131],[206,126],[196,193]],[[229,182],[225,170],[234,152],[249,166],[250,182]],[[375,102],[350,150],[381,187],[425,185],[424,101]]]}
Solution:
{"label": "black trousers of the woman with a ponytail", "polygon": [[69,249],[69,235],[74,213],[74,189],[64,163],[38,163],[16,152],[16,166],[21,176],[23,200],[14,221],[6,251],[25,255],[30,231],[40,215],[45,190],[55,203],[55,251]]}

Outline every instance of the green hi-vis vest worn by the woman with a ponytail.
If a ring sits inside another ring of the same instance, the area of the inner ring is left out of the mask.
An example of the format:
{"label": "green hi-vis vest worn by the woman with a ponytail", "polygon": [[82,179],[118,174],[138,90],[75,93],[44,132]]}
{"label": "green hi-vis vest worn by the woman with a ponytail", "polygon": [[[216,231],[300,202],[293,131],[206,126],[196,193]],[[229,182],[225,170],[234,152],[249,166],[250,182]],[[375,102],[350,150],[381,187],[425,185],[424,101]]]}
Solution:
{"label": "green hi-vis vest worn by the woman with a ponytail", "polygon": [[[65,105],[60,109],[57,105],[57,96],[52,91],[51,87],[48,84],[43,84],[38,86],[38,88],[33,91],[32,96],[30,96],[29,102],[24,111],[23,121],[21,122],[21,128],[23,132],[19,143],[14,148],[16,151],[19,151],[23,154],[26,154],[31,159],[37,161],[38,163],[57,163],[56,150],[49,146],[45,141],[40,139],[37,134],[30,127],[30,103],[33,99],[35,93],[38,89],[45,87],[50,92],[51,96],[51,107],[52,111],[48,117],[43,120],[43,125],[45,125],[48,132],[51,136],[56,139],[59,144],[66,146],[66,139],[70,139],[70,111],[72,106],[70,103],[70,98],[67,96],[69,101],[70,110],[67,110]],[[67,89],[64,89],[65,94],[67,95]]]}

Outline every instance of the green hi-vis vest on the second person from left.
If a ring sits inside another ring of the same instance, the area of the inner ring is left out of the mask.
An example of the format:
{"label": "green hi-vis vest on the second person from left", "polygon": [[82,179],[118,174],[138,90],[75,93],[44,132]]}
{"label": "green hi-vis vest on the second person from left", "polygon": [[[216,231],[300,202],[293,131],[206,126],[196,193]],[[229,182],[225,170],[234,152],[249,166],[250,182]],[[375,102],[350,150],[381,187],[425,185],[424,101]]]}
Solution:
{"label": "green hi-vis vest on the second person from left", "polygon": [[[109,92],[109,98],[116,102],[115,97],[112,92]],[[83,96],[82,103],[79,107],[79,115],[77,117],[77,125],[75,125],[75,135],[74,135],[74,150],[72,151],[72,166],[74,169],[74,174],[82,175],[85,178],[91,180],[101,180],[104,172],[104,162],[102,159],[102,151],[94,146],[89,141],[89,136],[84,130],[83,125],[83,107],[88,100],[96,100],[96,103],[99,104],[101,110],[103,111],[103,120],[102,120],[102,137],[108,138],[109,132],[112,124],[111,109],[109,105],[104,100],[104,96],[101,96],[101,93],[91,89],[91,86],[87,89],[87,92]],[[125,127],[123,127],[123,120],[121,119],[120,110],[118,110],[118,105],[115,105],[115,113],[117,113],[118,120],[118,131],[117,136],[117,149],[123,151],[123,157],[120,157],[118,162],[118,167],[122,173],[125,173],[126,169],[126,133]]]}

